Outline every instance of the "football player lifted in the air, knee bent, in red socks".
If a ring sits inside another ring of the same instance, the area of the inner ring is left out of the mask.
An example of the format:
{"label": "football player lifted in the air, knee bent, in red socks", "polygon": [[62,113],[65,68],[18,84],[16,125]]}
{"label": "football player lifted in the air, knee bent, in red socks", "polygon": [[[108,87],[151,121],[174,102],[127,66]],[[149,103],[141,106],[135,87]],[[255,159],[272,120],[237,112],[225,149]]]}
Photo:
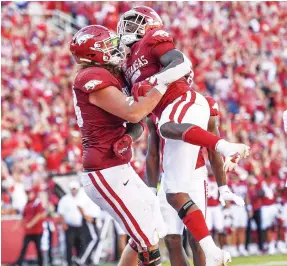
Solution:
{"label": "football player lifted in the air, knee bent, in red socks", "polygon": [[[206,131],[210,116],[208,102],[189,88],[184,76],[190,72],[191,63],[175,49],[153,9],[143,6],[125,12],[118,23],[118,34],[130,48],[123,65],[126,79],[135,84],[151,78],[156,84],[168,85],[165,96],[153,110],[159,118],[159,132],[166,139],[163,188],[167,200],[203,248],[206,265],[227,263],[230,255],[216,247],[202,212],[188,195],[191,185],[188,174],[195,169],[200,146],[223,154],[225,170],[232,169],[240,158],[247,156],[249,147],[229,143]],[[137,100],[147,90],[133,87],[132,92]]]}

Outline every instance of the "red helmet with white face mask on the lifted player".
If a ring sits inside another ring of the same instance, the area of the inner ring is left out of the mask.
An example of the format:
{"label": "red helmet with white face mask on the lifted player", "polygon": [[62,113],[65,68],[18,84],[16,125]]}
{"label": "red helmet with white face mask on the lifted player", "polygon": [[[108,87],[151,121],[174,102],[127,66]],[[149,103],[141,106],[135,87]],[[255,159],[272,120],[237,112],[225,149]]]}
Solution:
{"label": "red helmet with white face mask on the lifted player", "polygon": [[160,16],[152,8],[139,6],[121,16],[117,31],[121,41],[130,45],[139,41],[148,30],[162,26]]}

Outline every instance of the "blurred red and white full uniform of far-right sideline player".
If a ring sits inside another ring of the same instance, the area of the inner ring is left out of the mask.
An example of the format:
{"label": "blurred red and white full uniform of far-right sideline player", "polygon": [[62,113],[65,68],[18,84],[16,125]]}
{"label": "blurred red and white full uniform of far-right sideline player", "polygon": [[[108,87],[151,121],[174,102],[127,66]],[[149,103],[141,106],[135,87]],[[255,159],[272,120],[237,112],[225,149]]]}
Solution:
{"label": "blurred red and white full uniform of far-right sideline player", "polygon": [[262,199],[262,229],[271,227],[279,213],[279,206],[276,203],[276,191],[280,186],[279,179],[276,177],[265,178],[262,182],[264,197]]}

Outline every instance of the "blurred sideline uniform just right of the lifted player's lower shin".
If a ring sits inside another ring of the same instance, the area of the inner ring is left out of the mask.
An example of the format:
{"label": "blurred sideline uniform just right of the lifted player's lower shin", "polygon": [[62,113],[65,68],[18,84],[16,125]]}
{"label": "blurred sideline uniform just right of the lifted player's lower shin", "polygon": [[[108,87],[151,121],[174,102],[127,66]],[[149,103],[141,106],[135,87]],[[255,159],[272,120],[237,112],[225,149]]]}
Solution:
{"label": "blurred sideline uniform just right of the lifted player's lower shin", "polygon": [[219,233],[223,232],[223,212],[219,203],[219,190],[214,176],[208,178],[206,224],[209,231],[216,230]]}

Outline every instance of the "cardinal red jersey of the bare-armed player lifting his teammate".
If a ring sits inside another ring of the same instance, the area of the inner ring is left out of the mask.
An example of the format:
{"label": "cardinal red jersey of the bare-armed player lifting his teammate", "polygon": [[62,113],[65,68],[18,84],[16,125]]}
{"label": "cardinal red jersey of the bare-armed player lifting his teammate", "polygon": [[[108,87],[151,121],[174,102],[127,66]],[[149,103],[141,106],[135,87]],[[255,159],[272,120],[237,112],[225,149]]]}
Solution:
{"label": "cardinal red jersey of the bare-armed player lifting his teammate", "polygon": [[89,93],[108,86],[128,94],[121,77],[115,77],[104,68],[82,69],[74,80],[73,99],[77,123],[82,133],[85,170],[100,170],[128,162],[127,159],[117,158],[112,148],[125,133],[125,121],[89,101]]}

